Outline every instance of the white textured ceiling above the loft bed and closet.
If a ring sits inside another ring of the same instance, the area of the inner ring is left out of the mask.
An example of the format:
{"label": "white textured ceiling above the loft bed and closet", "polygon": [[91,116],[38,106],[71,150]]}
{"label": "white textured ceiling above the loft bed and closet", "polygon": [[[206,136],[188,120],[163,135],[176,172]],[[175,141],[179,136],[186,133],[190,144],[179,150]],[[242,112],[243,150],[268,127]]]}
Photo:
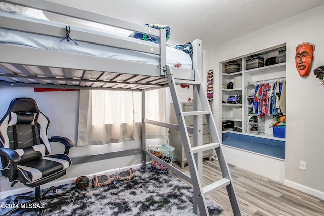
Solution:
{"label": "white textured ceiling above the loft bed and closet", "polygon": [[223,44],[324,4],[323,0],[51,1],[141,25],[169,25],[169,44],[201,39],[204,47]]}

